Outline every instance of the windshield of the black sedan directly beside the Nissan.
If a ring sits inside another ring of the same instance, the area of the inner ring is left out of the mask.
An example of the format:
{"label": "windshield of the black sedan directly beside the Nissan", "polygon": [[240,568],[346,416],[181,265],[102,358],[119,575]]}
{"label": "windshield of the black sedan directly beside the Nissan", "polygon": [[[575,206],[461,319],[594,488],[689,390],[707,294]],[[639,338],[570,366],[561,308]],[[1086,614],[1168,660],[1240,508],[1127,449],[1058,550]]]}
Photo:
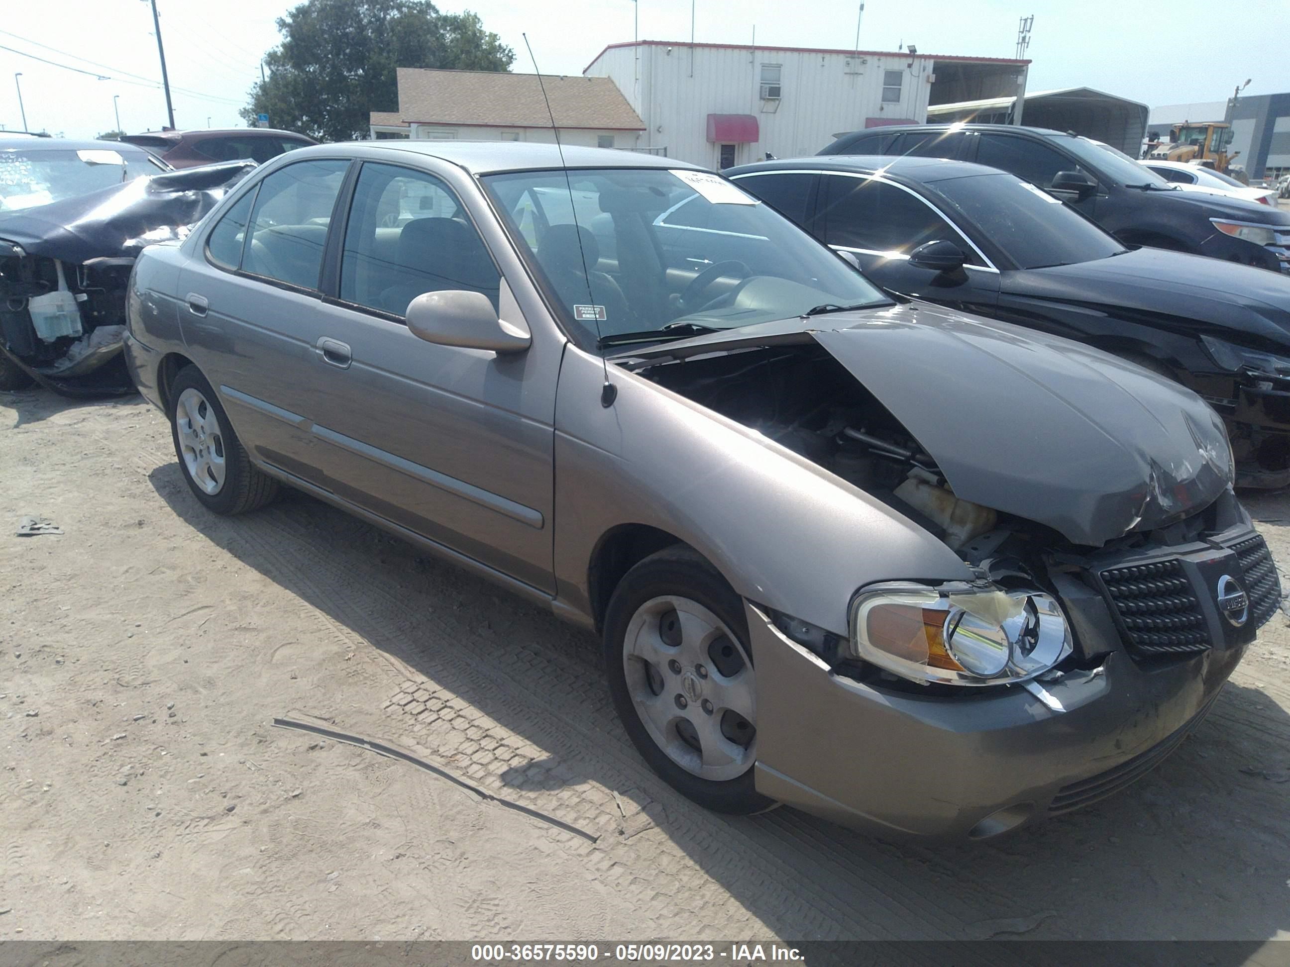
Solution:
{"label": "windshield of the black sedan directly beside the Nissan", "polygon": [[1051,195],[1010,174],[975,174],[928,186],[1018,268],[1093,262],[1124,245]]}

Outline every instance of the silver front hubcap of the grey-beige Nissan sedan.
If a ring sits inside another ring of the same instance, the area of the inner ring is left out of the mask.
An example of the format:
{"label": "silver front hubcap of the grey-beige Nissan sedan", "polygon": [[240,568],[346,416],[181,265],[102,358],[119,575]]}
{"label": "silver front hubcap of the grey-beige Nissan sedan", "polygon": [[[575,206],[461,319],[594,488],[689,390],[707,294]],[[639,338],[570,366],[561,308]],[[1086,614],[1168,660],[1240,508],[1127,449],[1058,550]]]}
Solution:
{"label": "silver front hubcap of the grey-beige Nissan sedan", "polygon": [[752,663],[708,609],[658,597],[632,615],[623,672],[645,731],[686,772],[716,781],[757,758]]}

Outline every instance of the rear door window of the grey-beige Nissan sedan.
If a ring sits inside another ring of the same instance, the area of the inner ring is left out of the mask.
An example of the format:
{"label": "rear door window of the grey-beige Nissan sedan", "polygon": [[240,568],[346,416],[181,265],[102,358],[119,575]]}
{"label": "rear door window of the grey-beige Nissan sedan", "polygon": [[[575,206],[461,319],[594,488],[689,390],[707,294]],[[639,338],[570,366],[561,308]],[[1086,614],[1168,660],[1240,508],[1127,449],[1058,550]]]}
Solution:
{"label": "rear door window of the grey-beige Nissan sedan", "polygon": [[243,271],[317,289],[332,208],[348,161],[299,161],[259,183]]}

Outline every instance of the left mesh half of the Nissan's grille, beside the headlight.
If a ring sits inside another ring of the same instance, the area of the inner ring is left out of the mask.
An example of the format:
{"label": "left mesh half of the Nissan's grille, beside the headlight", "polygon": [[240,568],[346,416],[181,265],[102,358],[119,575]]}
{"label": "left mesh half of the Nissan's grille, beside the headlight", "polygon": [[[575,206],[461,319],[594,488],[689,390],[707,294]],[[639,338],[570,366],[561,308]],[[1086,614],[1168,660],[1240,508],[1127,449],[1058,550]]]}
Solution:
{"label": "left mesh half of the Nissan's grille, beside the headlight", "polygon": [[1209,650],[1200,601],[1178,561],[1112,567],[1102,571],[1102,580],[1127,632],[1129,652],[1135,658]]}

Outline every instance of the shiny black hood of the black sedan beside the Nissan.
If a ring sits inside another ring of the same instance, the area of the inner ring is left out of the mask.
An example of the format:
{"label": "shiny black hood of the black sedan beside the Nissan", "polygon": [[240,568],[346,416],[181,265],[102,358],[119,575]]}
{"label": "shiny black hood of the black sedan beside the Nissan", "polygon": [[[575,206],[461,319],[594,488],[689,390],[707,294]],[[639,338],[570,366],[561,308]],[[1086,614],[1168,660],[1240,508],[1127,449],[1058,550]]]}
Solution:
{"label": "shiny black hood of the black sedan beside the Nissan", "polygon": [[1000,285],[1014,297],[1102,307],[1116,317],[1127,311],[1153,325],[1211,331],[1246,344],[1250,340],[1241,335],[1253,335],[1255,344],[1267,340],[1290,349],[1290,276],[1265,268],[1138,249],[1072,266],[1004,272]]}

